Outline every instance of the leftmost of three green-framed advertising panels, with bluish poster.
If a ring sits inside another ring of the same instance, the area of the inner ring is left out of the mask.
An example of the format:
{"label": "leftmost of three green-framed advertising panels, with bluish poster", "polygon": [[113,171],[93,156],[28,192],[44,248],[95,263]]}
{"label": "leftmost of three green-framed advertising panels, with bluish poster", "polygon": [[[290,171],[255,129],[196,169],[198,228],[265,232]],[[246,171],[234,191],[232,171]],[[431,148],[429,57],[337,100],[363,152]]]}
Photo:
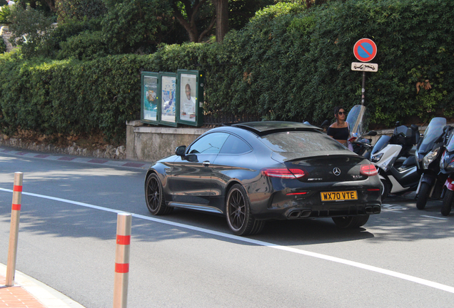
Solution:
{"label": "leftmost of three green-framed advertising panels, with bluish poster", "polygon": [[158,73],[141,73],[141,122],[158,124]]}

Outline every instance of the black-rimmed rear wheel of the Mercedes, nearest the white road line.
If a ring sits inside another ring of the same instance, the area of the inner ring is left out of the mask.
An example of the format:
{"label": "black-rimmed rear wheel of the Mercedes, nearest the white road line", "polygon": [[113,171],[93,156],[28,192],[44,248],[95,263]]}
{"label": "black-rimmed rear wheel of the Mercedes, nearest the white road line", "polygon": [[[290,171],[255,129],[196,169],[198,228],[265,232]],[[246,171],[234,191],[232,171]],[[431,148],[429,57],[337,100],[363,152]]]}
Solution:
{"label": "black-rimmed rear wheel of the Mercedes, nearest the white road line", "polygon": [[261,232],[263,220],[256,220],[251,215],[248,195],[243,186],[235,184],[228,191],[226,199],[226,217],[228,227],[235,235],[253,235]]}

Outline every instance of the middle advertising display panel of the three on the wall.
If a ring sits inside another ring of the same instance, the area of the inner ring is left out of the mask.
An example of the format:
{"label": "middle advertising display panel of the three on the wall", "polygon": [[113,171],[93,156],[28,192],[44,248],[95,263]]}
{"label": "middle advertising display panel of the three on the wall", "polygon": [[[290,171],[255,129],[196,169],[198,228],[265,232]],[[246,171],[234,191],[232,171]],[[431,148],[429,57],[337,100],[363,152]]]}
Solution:
{"label": "middle advertising display panel of the three on the wall", "polygon": [[176,126],[176,73],[159,73],[161,81],[161,117],[159,123]]}

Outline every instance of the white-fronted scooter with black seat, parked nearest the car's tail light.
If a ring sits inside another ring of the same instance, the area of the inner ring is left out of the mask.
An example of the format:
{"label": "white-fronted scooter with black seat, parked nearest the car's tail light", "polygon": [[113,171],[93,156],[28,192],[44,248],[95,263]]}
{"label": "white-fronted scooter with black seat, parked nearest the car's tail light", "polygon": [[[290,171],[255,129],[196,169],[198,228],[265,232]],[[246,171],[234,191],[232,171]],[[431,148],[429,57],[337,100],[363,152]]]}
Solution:
{"label": "white-fronted scooter with black seat, parked nearest the car's tail light", "polygon": [[393,135],[382,135],[370,153],[369,160],[383,185],[382,201],[390,193],[402,195],[416,190],[420,180],[413,152],[420,138],[418,125],[396,125]]}

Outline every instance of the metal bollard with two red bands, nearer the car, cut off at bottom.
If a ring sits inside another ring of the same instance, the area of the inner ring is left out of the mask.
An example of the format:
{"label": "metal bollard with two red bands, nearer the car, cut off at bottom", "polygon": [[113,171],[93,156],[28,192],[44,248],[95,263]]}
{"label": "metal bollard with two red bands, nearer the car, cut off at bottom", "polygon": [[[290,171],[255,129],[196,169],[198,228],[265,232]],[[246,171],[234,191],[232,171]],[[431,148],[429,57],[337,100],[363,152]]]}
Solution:
{"label": "metal bollard with two red bands, nearer the car, cut off at bottom", "polygon": [[114,308],[126,308],[128,300],[129,245],[131,244],[132,215],[118,213],[116,221],[116,253],[114,279]]}

